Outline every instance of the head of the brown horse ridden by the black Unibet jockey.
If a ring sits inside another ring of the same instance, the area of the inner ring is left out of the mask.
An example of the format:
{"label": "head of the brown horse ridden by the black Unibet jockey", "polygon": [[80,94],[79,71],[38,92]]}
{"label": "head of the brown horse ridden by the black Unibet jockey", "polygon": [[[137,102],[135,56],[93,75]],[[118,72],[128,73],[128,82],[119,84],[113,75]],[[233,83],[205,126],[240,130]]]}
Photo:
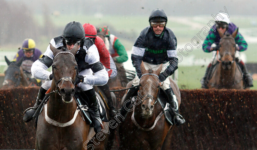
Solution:
{"label": "head of the brown horse ridden by the black Unibet jockey", "polygon": [[150,117],[154,110],[154,104],[156,103],[160,81],[158,75],[162,70],[162,65],[156,70],[146,70],[144,63],[141,63],[142,76],[139,85],[138,97],[142,100],[141,108],[145,117]]}

